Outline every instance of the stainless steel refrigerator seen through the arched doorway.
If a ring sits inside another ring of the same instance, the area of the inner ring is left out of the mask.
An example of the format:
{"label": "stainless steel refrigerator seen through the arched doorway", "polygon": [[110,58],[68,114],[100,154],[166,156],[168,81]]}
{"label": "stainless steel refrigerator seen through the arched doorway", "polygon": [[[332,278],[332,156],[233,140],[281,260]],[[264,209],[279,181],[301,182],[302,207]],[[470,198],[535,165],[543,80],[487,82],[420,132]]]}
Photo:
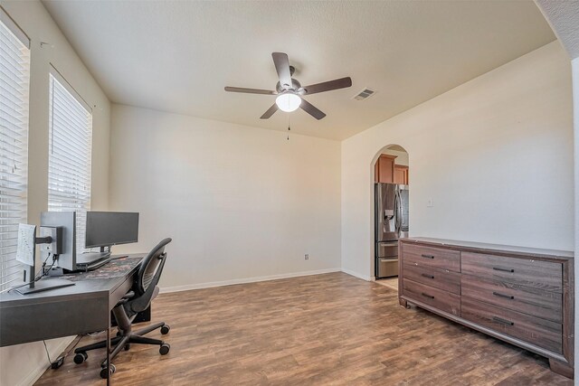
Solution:
{"label": "stainless steel refrigerator seen through the arched doorway", "polygon": [[398,276],[398,239],[408,236],[408,185],[375,184],[375,277]]}

